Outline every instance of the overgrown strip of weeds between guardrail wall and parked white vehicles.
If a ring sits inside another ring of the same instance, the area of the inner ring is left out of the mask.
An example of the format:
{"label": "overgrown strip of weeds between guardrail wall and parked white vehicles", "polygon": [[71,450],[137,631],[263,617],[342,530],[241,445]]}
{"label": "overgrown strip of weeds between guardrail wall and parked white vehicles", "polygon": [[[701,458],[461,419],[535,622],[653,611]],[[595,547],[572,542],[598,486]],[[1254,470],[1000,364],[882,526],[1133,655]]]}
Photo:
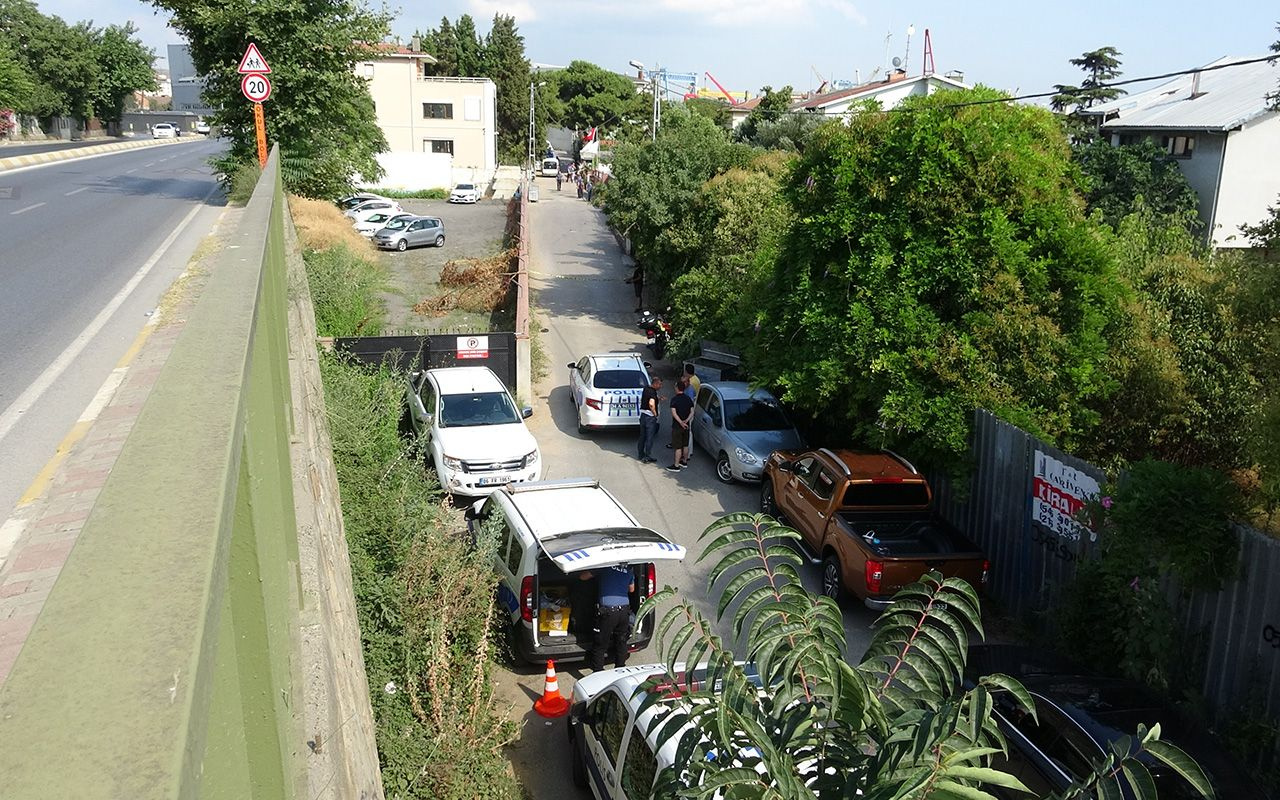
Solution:
{"label": "overgrown strip of weeds between guardrail wall and parked white vehicles", "polygon": [[471,547],[397,428],[401,376],[320,362],[389,800],[517,800],[494,698],[493,548]]}

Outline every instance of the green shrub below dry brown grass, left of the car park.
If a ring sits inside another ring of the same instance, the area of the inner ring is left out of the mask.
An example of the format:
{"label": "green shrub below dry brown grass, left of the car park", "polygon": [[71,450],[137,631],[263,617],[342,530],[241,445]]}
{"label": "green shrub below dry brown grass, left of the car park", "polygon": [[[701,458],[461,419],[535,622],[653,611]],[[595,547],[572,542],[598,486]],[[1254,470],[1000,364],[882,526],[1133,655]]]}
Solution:
{"label": "green shrub below dry brown grass, left of the car park", "polygon": [[346,244],[302,253],[321,337],[376,335],[381,325],[381,264]]}

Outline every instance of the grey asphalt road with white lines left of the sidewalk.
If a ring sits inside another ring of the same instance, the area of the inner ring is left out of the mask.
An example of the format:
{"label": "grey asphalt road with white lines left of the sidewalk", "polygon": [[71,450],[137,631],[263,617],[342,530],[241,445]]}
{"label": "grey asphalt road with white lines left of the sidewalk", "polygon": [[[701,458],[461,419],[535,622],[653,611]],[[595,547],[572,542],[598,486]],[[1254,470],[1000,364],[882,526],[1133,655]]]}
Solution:
{"label": "grey asphalt road with white lines left of the sidewalk", "polygon": [[0,172],[0,522],[221,214],[206,161],[223,147]]}

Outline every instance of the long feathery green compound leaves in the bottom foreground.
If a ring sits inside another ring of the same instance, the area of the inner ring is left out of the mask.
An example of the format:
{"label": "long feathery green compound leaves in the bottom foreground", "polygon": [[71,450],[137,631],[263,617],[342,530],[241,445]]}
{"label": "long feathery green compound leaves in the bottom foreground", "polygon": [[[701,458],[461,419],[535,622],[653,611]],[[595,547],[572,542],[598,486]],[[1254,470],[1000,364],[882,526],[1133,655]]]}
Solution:
{"label": "long feathery green compound leaves in the bottom foreground", "polygon": [[[1036,713],[1014,678],[992,675],[961,687],[970,634],[982,636],[980,604],[969,584],[937,573],[904,589],[876,623],[861,663],[846,659],[840,608],[804,589],[799,534],[763,515],[721,517],[701,535],[699,561],[716,557],[709,588],[719,588],[717,620],[731,620],[741,655],[689,602],[675,603],[657,627],[667,676],[649,681],[640,713],[654,708],[659,740],[678,737],[676,764],[657,796],[838,797],[865,800],[993,800],[989,787],[1028,790],[993,769],[1006,751],[995,699]],[[640,616],[676,595],[663,589]],[[678,663],[689,669],[681,676]],[[705,677],[694,682],[695,664]],[[657,690],[682,681],[678,700]],[[1156,797],[1143,760],[1158,760],[1206,797],[1212,788],[1196,763],[1158,726],[1116,742],[1096,774],[1065,797]]]}

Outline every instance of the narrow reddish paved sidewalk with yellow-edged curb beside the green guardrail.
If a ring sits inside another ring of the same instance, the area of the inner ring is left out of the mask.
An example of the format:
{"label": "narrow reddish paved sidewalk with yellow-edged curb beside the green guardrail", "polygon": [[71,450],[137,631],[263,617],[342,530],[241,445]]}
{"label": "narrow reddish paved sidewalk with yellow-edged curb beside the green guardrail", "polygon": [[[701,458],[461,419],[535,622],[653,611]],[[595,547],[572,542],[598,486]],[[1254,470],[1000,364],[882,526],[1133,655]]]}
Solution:
{"label": "narrow reddish paved sidewalk with yellow-edged curb beside the green guardrail", "polygon": [[[234,230],[242,209],[228,207],[210,238]],[[76,540],[124,440],[137,421],[186,312],[200,296],[219,250],[201,244],[193,264],[165,293],[147,325],[84,410],[58,453],[41,470],[0,525],[0,685],[18,654]]]}

